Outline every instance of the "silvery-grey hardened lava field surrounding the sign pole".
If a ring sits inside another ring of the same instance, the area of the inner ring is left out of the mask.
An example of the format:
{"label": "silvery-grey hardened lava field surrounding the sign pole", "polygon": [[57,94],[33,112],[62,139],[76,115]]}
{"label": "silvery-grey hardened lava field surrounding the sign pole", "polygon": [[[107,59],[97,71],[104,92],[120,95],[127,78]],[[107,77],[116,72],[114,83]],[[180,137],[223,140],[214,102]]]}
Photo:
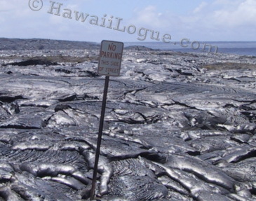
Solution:
{"label": "silvery-grey hardened lava field surrounding the sign pole", "polygon": [[[6,40],[0,200],[88,200],[99,46]],[[256,57],[126,48],[109,82],[97,200],[256,200],[255,76]]]}

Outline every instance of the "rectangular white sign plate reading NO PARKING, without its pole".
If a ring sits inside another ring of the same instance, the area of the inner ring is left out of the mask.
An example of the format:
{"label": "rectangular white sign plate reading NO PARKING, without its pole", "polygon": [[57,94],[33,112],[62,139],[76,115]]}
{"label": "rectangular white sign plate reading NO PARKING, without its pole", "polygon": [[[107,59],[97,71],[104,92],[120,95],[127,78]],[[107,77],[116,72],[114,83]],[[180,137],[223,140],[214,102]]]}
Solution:
{"label": "rectangular white sign plate reading NO PARKING, without its pole", "polygon": [[102,41],[97,74],[100,76],[119,76],[122,56],[122,42]]}

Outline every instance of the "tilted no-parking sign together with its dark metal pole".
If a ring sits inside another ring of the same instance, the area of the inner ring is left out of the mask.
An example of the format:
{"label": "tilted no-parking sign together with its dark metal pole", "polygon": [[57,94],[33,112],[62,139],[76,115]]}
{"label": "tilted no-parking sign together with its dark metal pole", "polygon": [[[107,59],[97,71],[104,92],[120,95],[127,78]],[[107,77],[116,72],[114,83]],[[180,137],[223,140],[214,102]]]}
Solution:
{"label": "tilted no-parking sign together with its dark metal pole", "polygon": [[100,114],[99,133],[97,137],[97,148],[95,153],[95,162],[93,170],[92,188],[90,190],[90,200],[95,196],[95,186],[97,177],[97,164],[100,157],[100,144],[102,139],[102,130],[105,117],[105,109],[107,103],[107,90],[109,87],[109,76],[119,76],[121,68],[121,60],[123,55],[123,43],[116,41],[102,41],[100,47],[100,59],[97,67],[97,74],[106,76],[104,94],[102,99],[102,109]]}

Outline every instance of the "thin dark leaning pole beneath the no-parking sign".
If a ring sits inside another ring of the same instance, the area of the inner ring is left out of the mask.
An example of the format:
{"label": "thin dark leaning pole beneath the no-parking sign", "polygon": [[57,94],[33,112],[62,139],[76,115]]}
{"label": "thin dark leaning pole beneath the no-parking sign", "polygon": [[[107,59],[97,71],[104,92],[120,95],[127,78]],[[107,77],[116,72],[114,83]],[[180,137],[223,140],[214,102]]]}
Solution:
{"label": "thin dark leaning pole beneath the no-parking sign", "polygon": [[97,164],[99,162],[99,157],[100,157],[100,144],[102,139],[102,130],[103,130],[104,117],[105,117],[108,88],[109,88],[109,76],[106,76],[104,94],[102,99],[102,109],[101,109],[101,115],[100,115],[99,134],[97,136],[97,148],[96,148],[96,155],[95,155],[95,162],[94,162],[93,183],[92,183],[92,188],[90,190],[90,200],[93,200],[95,195],[95,186],[96,186],[96,179],[97,179]]}

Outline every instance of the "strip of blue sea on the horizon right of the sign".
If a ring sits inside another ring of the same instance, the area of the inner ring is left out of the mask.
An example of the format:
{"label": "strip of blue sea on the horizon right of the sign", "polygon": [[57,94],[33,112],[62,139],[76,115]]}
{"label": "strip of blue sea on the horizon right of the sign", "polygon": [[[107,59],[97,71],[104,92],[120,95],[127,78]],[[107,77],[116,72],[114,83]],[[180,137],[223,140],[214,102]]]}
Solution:
{"label": "strip of blue sea on the horizon right of the sign", "polygon": [[[206,45],[204,45],[206,44]],[[182,47],[186,46],[185,47]],[[193,45],[193,46],[192,46]],[[223,42],[223,41],[206,41],[206,42],[195,42],[195,43],[181,43],[181,42],[131,42],[124,43],[124,46],[145,46],[147,48],[159,49],[159,50],[173,50],[182,53],[203,53],[208,52],[210,46],[212,46],[212,53],[229,53],[236,55],[252,55],[256,56],[256,41],[234,41],[234,42]],[[217,48],[216,48],[217,47]]]}

